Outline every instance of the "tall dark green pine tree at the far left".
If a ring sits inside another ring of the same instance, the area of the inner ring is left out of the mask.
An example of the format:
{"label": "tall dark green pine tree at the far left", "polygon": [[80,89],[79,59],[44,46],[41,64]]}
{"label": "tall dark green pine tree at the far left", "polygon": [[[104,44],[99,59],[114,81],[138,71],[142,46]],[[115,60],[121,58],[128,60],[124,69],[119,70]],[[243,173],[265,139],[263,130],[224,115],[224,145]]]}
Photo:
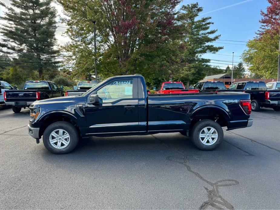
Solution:
{"label": "tall dark green pine tree at the far left", "polygon": [[58,51],[54,50],[56,10],[51,0],[11,0],[11,7],[3,2],[0,5],[7,10],[0,18],[8,22],[0,27],[4,37],[0,41],[0,51],[17,54],[18,58],[13,58],[11,65],[37,70],[39,78],[43,79],[43,72],[54,71],[50,67],[58,63],[55,61]]}

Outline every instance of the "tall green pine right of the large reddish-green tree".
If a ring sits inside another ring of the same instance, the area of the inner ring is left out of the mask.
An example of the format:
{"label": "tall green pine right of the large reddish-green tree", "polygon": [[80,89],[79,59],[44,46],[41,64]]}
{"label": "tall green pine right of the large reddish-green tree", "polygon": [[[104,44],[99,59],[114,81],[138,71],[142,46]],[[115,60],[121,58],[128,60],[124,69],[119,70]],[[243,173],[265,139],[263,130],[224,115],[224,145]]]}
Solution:
{"label": "tall green pine right of the large reddish-green tree", "polygon": [[[211,25],[214,24],[210,21],[211,17],[198,19],[199,13],[202,11],[203,7],[199,7],[198,3],[183,5],[177,17],[184,34],[179,78],[187,87],[189,84],[195,84],[203,79],[206,76],[205,70],[211,68],[207,64],[210,60],[201,56],[205,53],[216,53],[223,48],[210,44],[216,41],[220,35],[214,35],[217,30],[210,30]],[[211,35],[213,36],[211,37]]]}

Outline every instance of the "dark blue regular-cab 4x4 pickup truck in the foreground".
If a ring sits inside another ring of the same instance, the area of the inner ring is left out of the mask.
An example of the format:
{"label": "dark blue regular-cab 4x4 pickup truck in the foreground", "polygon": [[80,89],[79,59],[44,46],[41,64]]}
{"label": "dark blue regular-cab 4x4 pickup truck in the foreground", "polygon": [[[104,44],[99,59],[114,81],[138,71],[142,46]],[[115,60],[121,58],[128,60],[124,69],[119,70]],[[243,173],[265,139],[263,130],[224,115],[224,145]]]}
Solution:
{"label": "dark blue regular-cab 4x4 pickup truck in the foreground", "polygon": [[52,153],[71,152],[80,137],[189,134],[202,150],[216,149],[227,130],[252,126],[250,95],[194,93],[147,95],[144,77],[110,77],[80,96],[35,101],[28,133],[43,136]]}

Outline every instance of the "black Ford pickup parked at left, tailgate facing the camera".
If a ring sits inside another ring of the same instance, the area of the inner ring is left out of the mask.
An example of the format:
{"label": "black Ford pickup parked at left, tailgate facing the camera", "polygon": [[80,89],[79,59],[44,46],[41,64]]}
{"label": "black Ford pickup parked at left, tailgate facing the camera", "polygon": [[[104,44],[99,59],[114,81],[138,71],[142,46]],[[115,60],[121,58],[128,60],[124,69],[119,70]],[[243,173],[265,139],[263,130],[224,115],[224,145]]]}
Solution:
{"label": "black Ford pickup parked at left, tailgate facing the camera", "polygon": [[51,81],[26,81],[23,90],[5,90],[6,105],[19,113],[21,108],[29,107],[35,100],[43,100],[64,96],[63,86],[58,87]]}

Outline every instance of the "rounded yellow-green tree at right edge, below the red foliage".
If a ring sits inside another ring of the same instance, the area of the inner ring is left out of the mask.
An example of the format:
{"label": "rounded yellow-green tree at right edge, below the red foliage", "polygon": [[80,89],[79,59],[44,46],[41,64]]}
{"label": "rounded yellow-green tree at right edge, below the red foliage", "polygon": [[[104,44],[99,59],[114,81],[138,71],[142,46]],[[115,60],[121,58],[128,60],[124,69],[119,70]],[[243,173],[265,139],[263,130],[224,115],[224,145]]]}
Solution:
{"label": "rounded yellow-green tree at right edge, below the red foliage", "polygon": [[277,78],[279,34],[272,35],[269,31],[260,39],[247,42],[247,50],[242,54],[245,63],[250,64],[249,70],[263,78]]}

